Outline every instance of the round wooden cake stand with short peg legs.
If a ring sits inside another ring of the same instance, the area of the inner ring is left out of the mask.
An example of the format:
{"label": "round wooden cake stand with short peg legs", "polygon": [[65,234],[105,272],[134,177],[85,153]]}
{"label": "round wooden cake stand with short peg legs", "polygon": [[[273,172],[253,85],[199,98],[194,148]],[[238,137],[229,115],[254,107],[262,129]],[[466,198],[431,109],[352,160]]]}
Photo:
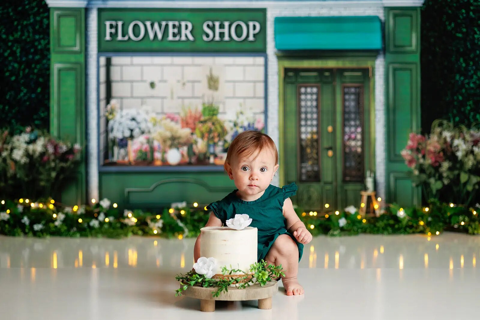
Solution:
{"label": "round wooden cake stand with short peg legs", "polygon": [[189,287],[182,292],[182,295],[200,299],[200,310],[205,312],[215,311],[215,300],[222,301],[244,301],[258,300],[259,309],[272,308],[272,296],[278,292],[278,282],[271,281],[261,287],[253,284],[245,289],[228,288],[228,292],[222,292],[220,296],[214,297],[212,293],[218,288],[204,288],[201,286]]}

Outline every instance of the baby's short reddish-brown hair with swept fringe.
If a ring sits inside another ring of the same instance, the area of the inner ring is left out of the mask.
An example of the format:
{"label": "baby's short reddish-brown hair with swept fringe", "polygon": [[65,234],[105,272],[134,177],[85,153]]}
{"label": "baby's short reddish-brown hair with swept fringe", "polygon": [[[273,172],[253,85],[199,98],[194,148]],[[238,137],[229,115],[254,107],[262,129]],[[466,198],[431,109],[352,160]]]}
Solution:
{"label": "baby's short reddish-brown hair with swept fringe", "polygon": [[275,165],[278,164],[278,151],[276,150],[275,142],[265,133],[260,131],[248,130],[243,131],[233,139],[228,147],[227,158],[225,163],[230,164],[233,156],[248,157],[255,152],[260,152],[268,148],[275,156]]}

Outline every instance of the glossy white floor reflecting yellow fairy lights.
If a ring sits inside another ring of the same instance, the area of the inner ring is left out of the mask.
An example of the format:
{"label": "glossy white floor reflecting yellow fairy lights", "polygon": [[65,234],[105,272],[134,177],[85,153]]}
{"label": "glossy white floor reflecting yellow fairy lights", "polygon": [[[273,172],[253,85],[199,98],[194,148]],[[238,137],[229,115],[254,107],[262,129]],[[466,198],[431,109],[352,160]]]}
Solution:
{"label": "glossy white floor reflecting yellow fairy lights", "polygon": [[[0,237],[0,319],[478,319],[480,237],[315,237],[300,261],[304,296],[217,302],[175,297],[194,239]],[[477,261],[479,260],[479,261]],[[280,284],[281,286],[281,284]],[[228,317],[228,318],[227,318]]]}

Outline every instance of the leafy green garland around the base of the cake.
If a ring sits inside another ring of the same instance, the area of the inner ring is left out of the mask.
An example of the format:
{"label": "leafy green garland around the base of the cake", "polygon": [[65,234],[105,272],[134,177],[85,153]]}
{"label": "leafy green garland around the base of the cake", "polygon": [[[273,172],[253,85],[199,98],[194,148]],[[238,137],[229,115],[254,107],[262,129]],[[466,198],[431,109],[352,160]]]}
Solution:
{"label": "leafy green garland around the base of the cake", "polygon": [[[182,284],[182,286],[175,291],[175,296],[181,296],[182,291],[196,285],[204,288],[216,287],[217,290],[212,293],[212,296],[218,297],[223,291],[228,292],[228,288],[231,285],[235,285],[239,289],[248,288],[252,284],[264,286],[267,282],[274,281],[280,276],[285,276],[283,271],[281,264],[275,266],[273,264],[267,264],[264,260],[251,264],[250,273],[246,273],[240,269],[232,269],[231,265],[230,269],[224,266],[222,268],[222,274],[227,275],[227,277],[222,279],[207,278],[205,274],[198,274],[192,270],[186,274],[180,273],[180,275],[175,277],[175,279]],[[235,277],[228,277],[228,275],[232,273],[241,274],[240,276],[239,274],[235,274]]]}

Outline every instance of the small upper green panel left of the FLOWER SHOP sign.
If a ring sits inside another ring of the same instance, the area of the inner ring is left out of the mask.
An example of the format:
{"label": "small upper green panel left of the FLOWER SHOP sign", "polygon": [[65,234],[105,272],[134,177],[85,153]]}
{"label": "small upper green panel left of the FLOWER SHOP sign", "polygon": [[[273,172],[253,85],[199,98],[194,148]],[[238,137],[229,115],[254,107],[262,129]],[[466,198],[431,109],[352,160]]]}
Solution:
{"label": "small upper green panel left of the FLOWER SHOP sign", "polygon": [[62,52],[83,53],[84,15],[82,10],[50,9],[52,54]]}

